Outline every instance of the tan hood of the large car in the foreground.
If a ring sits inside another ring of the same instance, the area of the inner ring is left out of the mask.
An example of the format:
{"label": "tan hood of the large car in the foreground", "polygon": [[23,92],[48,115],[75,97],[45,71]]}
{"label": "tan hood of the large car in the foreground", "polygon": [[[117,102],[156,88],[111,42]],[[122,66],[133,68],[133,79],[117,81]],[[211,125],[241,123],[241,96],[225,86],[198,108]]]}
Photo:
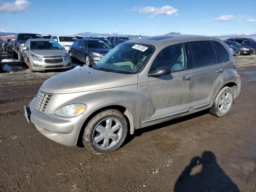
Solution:
{"label": "tan hood of the large car in the foreground", "polygon": [[92,69],[75,68],[46,80],[41,91],[51,94],[84,92],[137,84],[138,74],[120,74]]}

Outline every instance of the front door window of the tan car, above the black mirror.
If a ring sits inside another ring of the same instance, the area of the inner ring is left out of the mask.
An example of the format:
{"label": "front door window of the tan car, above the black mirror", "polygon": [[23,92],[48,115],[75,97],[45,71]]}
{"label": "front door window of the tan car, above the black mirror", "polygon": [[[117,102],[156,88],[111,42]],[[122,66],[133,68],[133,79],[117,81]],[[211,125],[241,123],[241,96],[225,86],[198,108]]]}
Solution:
{"label": "front door window of the tan car, above the black mirror", "polygon": [[150,72],[163,66],[168,67],[170,72],[186,69],[186,53],[184,44],[173,45],[162,50],[152,63]]}

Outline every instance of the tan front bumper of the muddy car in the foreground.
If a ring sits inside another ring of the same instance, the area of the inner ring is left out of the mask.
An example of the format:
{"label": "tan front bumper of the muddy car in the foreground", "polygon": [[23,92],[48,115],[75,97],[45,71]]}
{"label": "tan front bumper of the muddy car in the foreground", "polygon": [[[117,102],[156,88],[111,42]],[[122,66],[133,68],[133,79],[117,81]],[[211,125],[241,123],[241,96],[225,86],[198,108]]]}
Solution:
{"label": "tan front bumper of the muddy car in the foreground", "polygon": [[82,125],[89,115],[59,118],[39,112],[36,110],[35,104],[36,98],[30,102],[28,108],[30,110],[29,118],[36,129],[50,140],[66,146],[76,146]]}

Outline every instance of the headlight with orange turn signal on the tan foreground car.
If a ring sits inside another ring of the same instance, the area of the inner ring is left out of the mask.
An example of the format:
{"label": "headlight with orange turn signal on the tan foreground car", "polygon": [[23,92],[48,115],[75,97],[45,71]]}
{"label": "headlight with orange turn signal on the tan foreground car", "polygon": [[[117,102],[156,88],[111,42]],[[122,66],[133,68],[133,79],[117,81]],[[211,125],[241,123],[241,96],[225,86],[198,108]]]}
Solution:
{"label": "headlight with orange turn signal on the tan foreground car", "polygon": [[82,103],[73,103],[58,108],[55,114],[62,117],[75,117],[86,111],[87,107]]}

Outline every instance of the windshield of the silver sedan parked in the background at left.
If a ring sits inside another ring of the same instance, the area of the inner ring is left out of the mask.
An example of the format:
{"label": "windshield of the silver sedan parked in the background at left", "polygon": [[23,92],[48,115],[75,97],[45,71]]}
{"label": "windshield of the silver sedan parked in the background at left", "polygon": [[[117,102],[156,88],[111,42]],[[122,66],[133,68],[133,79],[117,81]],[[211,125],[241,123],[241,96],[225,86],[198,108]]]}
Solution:
{"label": "windshield of the silver sedan parked in the background at left", "polygon": [[32,41],[30,50],[63,50],[62,46],[56,41]]}

